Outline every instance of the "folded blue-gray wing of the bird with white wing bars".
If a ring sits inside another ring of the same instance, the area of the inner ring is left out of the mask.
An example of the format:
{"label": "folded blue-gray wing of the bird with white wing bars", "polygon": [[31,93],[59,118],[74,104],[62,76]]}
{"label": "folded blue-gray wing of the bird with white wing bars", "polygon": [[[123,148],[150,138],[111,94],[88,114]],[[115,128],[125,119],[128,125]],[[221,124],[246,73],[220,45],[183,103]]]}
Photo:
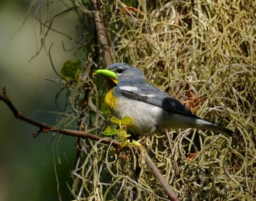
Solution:
{"label": "folded blue-gray wing of the bird with white wing bars", "polygon": [[119,92],[127,98],[141,100],[146,103],[164,108],[164,110],[168,110],[170,112],[197,117],[196,115],[192,114],[188,108],[184,107],[184,105],[182,105],[178,100],[172,96],[169,96],[165,91],[158,89],[147,82],[136,84],[132,84],[130,82],[129,87],[121,85],[118,86],[118,89]]}

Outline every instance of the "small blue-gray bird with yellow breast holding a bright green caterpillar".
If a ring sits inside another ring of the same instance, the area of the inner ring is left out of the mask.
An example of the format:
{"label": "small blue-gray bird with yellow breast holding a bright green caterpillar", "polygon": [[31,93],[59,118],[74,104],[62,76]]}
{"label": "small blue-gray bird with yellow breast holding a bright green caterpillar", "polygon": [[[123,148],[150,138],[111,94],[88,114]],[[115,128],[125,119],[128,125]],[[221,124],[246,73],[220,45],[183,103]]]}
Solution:
{"label": "small blue-gray bird with yellow breast holding a bright green caterpillar", "polygon": [[108,69],[95,71],[95,74],[112,78],[115,82],[116,86],[108,91],[105,101],[119,119],[125,116],[133,119],[134,124],[128,128],[131,133],[147,135],[179,128],[211,130],[225,135],[233,133],[192,114],[178,100],[150,84],[143,72],[134,66],[114,63]]}

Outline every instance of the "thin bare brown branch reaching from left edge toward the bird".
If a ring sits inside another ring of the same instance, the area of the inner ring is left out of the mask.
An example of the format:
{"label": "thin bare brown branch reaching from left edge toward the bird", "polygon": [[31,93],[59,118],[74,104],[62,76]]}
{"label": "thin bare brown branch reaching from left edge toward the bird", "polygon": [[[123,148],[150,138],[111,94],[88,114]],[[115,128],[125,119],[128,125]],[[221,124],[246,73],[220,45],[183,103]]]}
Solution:
{"label": "thin bare brown branch reaching from left edge toward the bird", "polygon": [[21,121],[32,124],[33,126],[36,126],[40,129],[39,131],[33,133],[33,137],[37,137],[42,132],[48,133],[49,131],[53,131],[56,133],[60,133],[60,134],[68,135],[68,136],[72,136],[72,137],[88,138],[88,139],[96,140],[96,141],[100,140],[104,144],[111,144],[111,145],[114,145],[115,147],[120,147],[120,142],[117,142],[111,138],[102,138],[97,135],[90,134],[90,133],[88,133],[88,131],[74,131],[74,130],[56,128],[49,124],[38,123],[37,121],[34,121],[33,119],[29,119],[28,117],[21,115],[20,112],[17,110],[17,108],[15,108],[15,106],[13,105],[10,98],[8,98],[5,87],[3,87],[3,95],[0,95],[0,100],[3,101],[4,103],[6,103],[6,105],[10,108],[10,110],[12,111],[12,113],[16,119],[20,119]]}

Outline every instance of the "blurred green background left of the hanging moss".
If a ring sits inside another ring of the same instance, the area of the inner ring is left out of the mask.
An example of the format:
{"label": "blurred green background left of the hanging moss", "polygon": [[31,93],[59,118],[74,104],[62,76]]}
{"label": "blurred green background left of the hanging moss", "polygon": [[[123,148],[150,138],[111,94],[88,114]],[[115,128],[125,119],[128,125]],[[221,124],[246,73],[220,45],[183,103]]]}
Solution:
{"label": "blurred green background left of the hanging moss", "polygon": [[[45,78],[57,76],[44,49],[29,63],[40,45],[40,26],[33,18],[36,6],[17,33],[29,3],[0,1],[0,87],[6,86],[8,96],[23,115],[54,125],[58,115],[49,111],[58,111],[54,98],[61,86]],[[65,9],[62,3],[56,6],[57,11]],[[72,36],[75,24],[75,16],[65,15],[53,26]],[[59,71],[65,61],[72,59],[72,52],[63,50],[62,41],[72,46],[67,38],[52,32],[45,43],[46,48],[53,43],[51,56]],[[72,188],[76,138],[62,137],[60,144],[58,137],[52,140],[49,133],[33,138],[38,128],[15,119],[3,102],[0,120],[0,200],[58,200],[56,176],[61,200],[71,200],[68,185]]]}

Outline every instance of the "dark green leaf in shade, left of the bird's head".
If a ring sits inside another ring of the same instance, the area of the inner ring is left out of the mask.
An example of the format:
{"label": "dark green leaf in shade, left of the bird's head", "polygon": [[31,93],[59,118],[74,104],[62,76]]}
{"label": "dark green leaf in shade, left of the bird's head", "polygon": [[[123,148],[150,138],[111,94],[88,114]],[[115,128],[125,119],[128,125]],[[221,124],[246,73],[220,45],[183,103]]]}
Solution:
{"label": "dark green leaf in shade, left of the bird's head", "polygon": [[77,61],[66,61],[60,71],[60,75],[62,78],[67,80],[68,82],[72,80],[76,80],[79,82],[79,73],[81,71],[81,61],[77,59]]}

